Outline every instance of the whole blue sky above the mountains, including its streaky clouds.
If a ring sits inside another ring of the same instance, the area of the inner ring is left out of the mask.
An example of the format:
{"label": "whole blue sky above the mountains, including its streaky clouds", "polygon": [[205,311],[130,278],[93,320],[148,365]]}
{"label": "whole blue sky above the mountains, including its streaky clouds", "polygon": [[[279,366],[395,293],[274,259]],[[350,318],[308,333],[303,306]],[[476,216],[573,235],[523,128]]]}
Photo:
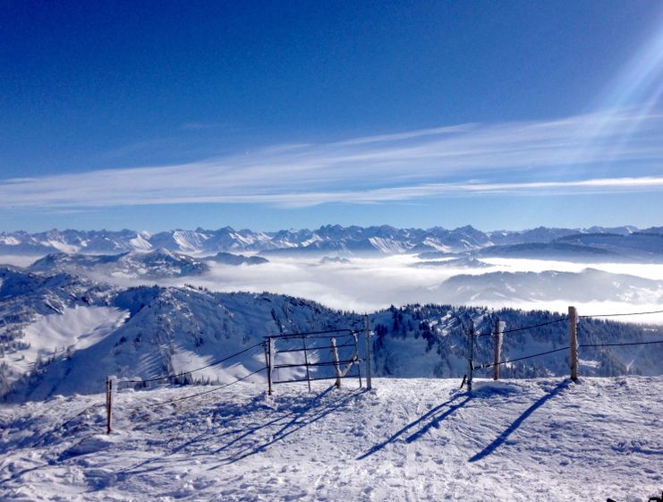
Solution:
{"label": "whole blue sky above the mountains, including its streaky clouds", "polygon": [[7,2],[0,230],[663,225],[663,4]]}

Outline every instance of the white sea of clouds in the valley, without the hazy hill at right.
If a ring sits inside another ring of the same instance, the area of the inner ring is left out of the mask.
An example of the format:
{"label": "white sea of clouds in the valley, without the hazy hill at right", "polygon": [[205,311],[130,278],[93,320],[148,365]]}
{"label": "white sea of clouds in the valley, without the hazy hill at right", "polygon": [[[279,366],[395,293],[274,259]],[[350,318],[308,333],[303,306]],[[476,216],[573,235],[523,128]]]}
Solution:
{"label": "white sea of clouds in the valley, without the hazy hill at right", "polygon": [[[33,258],[0,257],[0,263],[27,266]],[[463,294],[450,291],[445,281],[457,275],[480,275],[490,272],[534,272],[548,270],[581,273],[594,268],[611,274],[629,275],[663,281],[663,264],[625,263],[574,263],[554,260],[485,259],[488,268],[460,267],[414,267],[421,260],[414,255],[394,255],[384,258],[352,258],[348,262],[322,262],[318,258],[273,258],[262,265],[239,267],[208,262],[210,273],[200,277],[178,277],[174,279],[136,279],[133,277],[94,277],[128,287],[140,284],[182,286],[185,284],[207,287],[212,291],[249,291],[290,294],[314,300],[344,311],[377,311],[390,305],[408,303],[459,303],[487,305],[491,308],[514,307],[524,310],[540,309],[567,311],[574,304],[580,314],[624,313],[634,311],[657,311],[663,309],[663,285],[659,290],[647,291],[637,298],[599,302],[597,286],[582,285],[582,301],[570,301],[556,296],[555,282],[547,285],[546,300],[523,301],[522,292],[510,291],[505,287],[502,297],[489,300],[480,297],[473,300],[472,290]],[[623,276],[616,277],[621,280]],[[518,294],[516,294],[518,293]],[[654,314],[621,318],[628,321],[656,322],[663,324],[663,315]]]}

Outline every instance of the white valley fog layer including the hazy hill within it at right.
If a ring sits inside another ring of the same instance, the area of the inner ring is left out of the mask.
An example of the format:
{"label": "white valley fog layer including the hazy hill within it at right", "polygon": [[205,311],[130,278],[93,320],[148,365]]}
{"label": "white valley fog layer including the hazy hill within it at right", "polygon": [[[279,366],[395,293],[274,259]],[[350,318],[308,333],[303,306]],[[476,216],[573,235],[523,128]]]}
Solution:
{"label": "white valley fog layer including the hazy hill within it at right", "polygon": [[[430,264],[430,261],[420,260],[415,255],[351,258],[348,262],[319,258],[270,257],[269,260],[266,264],[239,267],[209,261],[211,272],[200,277],[158,280],[95,278],[123,286],[156,282],[160,285],[199,285],[223,292],[268,291],[301,296],[330,307],[359,312],[413,302],[465,303],[560,312],[565,312],[569,304],[574,304],[580,314],[656,311],[663,308],[663,264],[582,264],[490,258],[481,260],[484,265],[481,268],[467,268],[455,264],[439,265],[444,260],[435,260],[437,265]],[[0,262],[9,261],[21,266],[28,264],[25,259],[0,257]],[[580,275],[550,274],[548,271]],[[511,274],[496,274],[498,272]],[[512,275],[514,273],[521,274]],[[451,277],[455,278],[446,283]],[[657,284],[654,281],[662,282]],[[663,315],[660,314],[622,319],[663,323]]]}

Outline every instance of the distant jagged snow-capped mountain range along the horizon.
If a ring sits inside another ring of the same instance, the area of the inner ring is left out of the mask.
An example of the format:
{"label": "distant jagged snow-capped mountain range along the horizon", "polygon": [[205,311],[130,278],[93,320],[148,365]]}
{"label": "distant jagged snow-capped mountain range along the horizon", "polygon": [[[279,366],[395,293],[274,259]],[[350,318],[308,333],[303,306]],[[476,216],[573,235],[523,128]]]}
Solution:
{"label": "distant jagged snow-capped mountain range along the horizon", "polygon": [[381,226],[324,225],[317,230],[254,232],[224,227],[218,230],[172,230],[158,234],[121,231],[50,230],[37,234],[0,233],[0,254],[45,255],[53,252],[117,254],[129,251],[168,251],[214,254],[219,251],[252,251],[268,254],[378,254],[466,253],[480,256],[579,254],[623,259],[658,259],[663,256],[660,227],[638,230],[633,226],[588,229],[545,228],[520,232],[481,232],[472,226],[454,230]]}

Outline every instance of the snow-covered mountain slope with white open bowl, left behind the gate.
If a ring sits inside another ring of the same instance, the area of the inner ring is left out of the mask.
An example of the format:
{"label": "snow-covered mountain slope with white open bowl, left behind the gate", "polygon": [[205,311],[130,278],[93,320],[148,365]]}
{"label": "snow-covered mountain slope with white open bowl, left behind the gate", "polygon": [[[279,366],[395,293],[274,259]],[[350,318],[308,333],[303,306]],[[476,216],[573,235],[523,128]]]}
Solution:
{"label": "snow-covered mountain slope with white open bowl, left behind the gate", "polygon": [[[13,399],[97,392],[106,375],[149,379],[204,366],[267,335],[359,322],[357,316],[293,297],[217,294],[191,287],[108,290],[89,304],[66,304],[75,306],[78,310],[60,306],[54,312],[57,319],[35,310],[13,319],[11,311],[4,311],[0,335],[11,337],[11,343],[4,348],[7,366],[0,367],[0,382],[4,392],[12,388]],[[89,319],[67,324],[81,316]],[[50,336],[45,328],[54,326],[63,330]],[[226,381],[263,364],[258,350],[193,379]]]}

